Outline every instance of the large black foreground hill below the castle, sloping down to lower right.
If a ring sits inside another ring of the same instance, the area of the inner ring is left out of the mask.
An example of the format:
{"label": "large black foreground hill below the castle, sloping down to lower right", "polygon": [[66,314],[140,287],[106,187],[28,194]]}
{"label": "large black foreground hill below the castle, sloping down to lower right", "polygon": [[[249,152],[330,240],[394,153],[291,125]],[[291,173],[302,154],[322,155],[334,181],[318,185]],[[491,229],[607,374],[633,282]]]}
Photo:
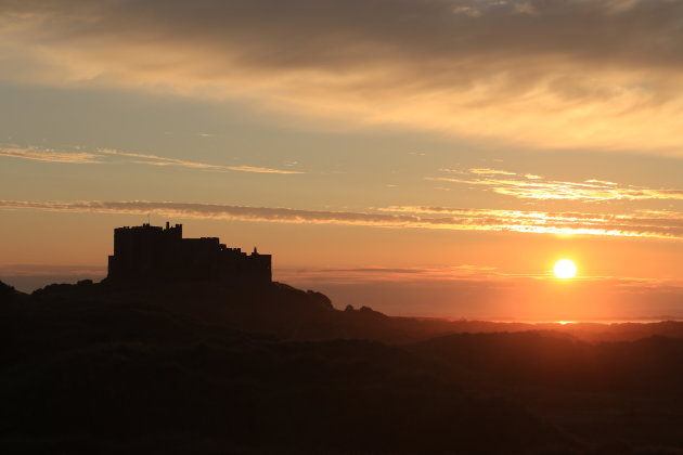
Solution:
{"label": "large black foreground hill below the castle, sloping down to lower right", "polygon": [[[248,335],[227,328],[224,315],[207,322],[222,314],[210,306],[195,307],[199,317],[175,311],[186,298],[180,290],[151,298],[150,288],[103,292],[85,283],[5,303],[2,452],[515,454],[577,446],[519,404],[464,391],[439,362],[376,341]],[[186,290],[196,298],[198,289]],[[320,295],[289,287],[229,294],[237,307],[230,321],[261,327],[274,323],[252,321],[241,304],[273,311],[281,324],[299,321],[298,312],[324,323],[335,311]],[[281,299],[266,299],[274,296]]]}

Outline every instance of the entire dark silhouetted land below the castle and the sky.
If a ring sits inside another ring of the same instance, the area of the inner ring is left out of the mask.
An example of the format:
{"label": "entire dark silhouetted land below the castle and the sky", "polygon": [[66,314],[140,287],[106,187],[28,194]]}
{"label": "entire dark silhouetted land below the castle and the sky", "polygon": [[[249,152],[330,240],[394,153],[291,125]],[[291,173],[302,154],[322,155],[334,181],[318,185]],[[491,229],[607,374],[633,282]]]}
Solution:
{"label": "entire dark silhouetted land below the castle and the sky", "polygon": [[527,326],[276,283],[5,289],[2,453],[683,453],[683,339],[491,333]]}

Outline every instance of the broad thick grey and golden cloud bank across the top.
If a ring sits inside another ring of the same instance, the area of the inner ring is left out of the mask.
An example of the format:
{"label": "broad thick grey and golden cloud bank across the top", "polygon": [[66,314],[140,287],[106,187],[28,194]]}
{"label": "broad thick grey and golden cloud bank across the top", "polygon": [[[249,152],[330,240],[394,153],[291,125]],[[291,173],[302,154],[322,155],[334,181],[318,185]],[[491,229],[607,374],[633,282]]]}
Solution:
{"label": "broad thick grey and golden cloud bank across the top", "polygon": [[679,0],[10,0],[0,79],[682,156],[681,16]]}

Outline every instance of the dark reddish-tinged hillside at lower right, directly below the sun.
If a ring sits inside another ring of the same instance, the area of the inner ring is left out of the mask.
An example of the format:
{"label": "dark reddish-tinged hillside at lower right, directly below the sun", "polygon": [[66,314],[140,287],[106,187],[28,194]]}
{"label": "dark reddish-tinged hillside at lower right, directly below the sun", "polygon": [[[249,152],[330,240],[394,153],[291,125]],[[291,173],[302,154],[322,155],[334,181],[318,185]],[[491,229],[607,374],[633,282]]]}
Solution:
{"label": "dark reddish-tinged hillside at lower right, directly below the sun", "polygon": [[579,440],[605,451],[620,441],[607,453],[683,453],[683,339],[589,343],[552,332],[458,334],[409,351],[467,377],[469,390],[525,403]]}

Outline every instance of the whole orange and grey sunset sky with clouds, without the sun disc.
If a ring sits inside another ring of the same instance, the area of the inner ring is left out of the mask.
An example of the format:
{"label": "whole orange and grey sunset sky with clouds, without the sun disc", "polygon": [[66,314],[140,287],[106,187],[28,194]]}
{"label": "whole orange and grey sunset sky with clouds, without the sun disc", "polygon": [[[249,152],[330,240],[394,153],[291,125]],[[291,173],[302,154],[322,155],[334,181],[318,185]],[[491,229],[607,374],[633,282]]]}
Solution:
{"label": "whole orange and grey sunset sky with clouds, without the sun disc", "polygon": [[337,308],[683,317],[682,49],[678,0],[0,0],[0,280],[149,217]]}

